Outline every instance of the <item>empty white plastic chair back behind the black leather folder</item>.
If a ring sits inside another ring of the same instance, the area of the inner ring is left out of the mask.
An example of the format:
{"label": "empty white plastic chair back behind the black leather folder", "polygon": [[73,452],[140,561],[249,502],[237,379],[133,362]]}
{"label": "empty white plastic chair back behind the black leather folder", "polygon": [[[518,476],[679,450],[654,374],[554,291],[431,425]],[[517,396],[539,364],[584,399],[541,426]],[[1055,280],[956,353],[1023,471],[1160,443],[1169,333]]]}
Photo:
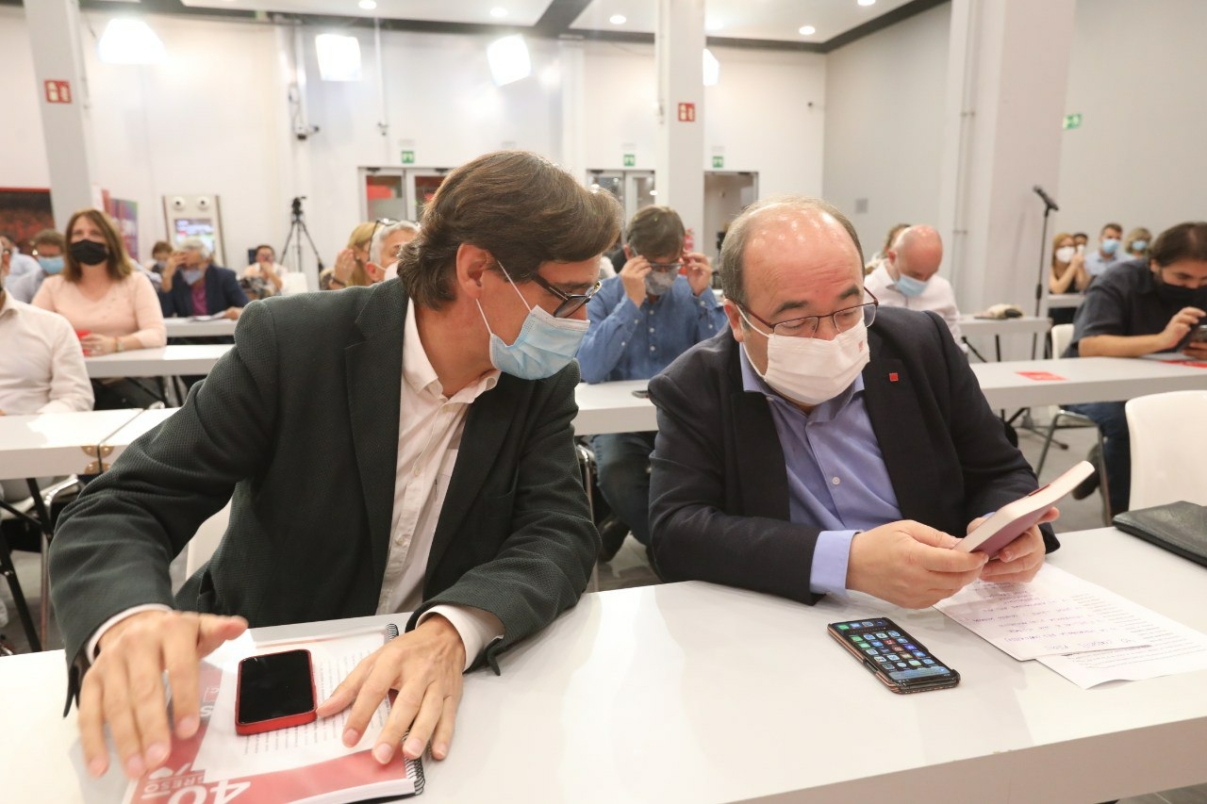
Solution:
{"label": "empty white plastic chair back behind the black leather folder", "polygon": [[1184,500],[1207,505],[1207,391],[1130,400],[1132,511]]}

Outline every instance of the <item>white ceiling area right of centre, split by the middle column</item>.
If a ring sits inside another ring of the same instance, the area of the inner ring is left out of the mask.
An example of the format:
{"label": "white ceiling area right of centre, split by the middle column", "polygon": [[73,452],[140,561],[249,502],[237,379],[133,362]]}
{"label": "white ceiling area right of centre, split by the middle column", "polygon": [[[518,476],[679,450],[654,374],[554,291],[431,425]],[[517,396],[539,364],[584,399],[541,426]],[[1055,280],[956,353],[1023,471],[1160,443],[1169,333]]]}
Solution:
{"label": "white ceiling area right of centre, split by the middle column", "polygon": [[[909,1],[861,6],[857,0],[706,0],[705,28],[710,36],[821,43]],[[612,24],[613,14],[626,22]],[[657,19],[658,4],[652,0],[593,0],[571,28],[652,34]],[[817,33],[803,36],[801,25]]]}

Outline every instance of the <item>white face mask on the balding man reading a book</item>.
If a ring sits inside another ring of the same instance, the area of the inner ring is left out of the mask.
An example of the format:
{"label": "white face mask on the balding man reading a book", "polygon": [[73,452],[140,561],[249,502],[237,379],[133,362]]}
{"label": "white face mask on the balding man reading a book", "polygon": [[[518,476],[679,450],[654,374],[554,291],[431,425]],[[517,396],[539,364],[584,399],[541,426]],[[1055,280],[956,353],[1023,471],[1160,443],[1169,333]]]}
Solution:
{"label": "white face mask on the balding man reading a book", "polygon": [[812,407],[833,400],[855,381],[870,360],[868,327],[863,321],[833,340],[822,340],[768,334],[751,325],[745,313],[741,315],[751,328],[768,338],[766,373],[759,377],[798,404]]}

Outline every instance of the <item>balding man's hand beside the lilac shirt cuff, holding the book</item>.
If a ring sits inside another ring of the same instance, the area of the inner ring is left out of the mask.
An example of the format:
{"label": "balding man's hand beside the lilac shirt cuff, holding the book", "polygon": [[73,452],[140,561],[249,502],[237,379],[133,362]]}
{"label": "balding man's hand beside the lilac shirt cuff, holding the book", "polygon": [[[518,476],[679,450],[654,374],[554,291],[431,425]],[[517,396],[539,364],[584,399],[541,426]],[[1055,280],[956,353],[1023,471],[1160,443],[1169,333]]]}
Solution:
{"label": "balding man's hand beside the lilac shirt cuff, holding the book", "polygon": [[975,581],[984,553],[951,549],[958,540],[916,522],[894,522],[851,541],[846,588],[906,608],[926,608]]}

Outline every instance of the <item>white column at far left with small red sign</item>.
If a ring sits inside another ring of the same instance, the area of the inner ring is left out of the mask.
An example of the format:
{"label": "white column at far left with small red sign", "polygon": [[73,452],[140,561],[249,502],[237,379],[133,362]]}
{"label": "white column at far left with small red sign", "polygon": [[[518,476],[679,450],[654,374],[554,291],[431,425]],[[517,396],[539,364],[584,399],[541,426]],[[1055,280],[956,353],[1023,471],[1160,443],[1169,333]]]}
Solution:
{"label": "white column at far left with small red sign", "polygon": [[80,49],[78,4],[76,0],[27,2],[25,21],[49,163],[51,206],[56,227],[63,229],[71,212],[94,205],[95,159],[88,123],[88,78]]}

